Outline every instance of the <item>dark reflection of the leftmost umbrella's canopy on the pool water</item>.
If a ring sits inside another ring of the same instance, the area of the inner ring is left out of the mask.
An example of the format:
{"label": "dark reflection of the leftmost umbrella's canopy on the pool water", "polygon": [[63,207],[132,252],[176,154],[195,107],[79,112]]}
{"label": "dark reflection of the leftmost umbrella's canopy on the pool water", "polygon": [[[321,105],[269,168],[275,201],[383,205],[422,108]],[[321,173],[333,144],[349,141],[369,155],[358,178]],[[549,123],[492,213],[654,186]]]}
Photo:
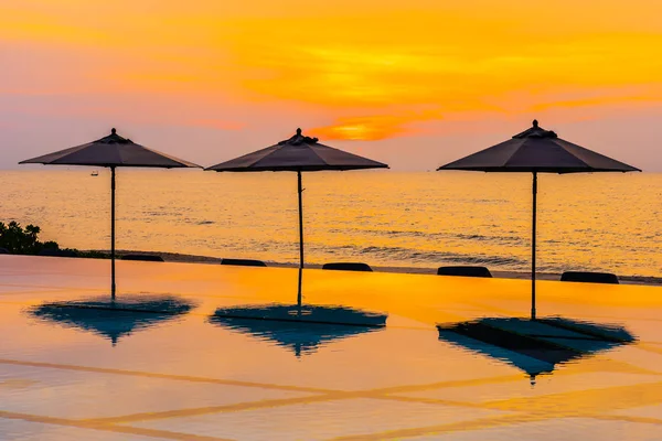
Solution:
{"label": "dark reflection of the leftmost umbrella's canopy on the pool water", "polygon": [[194,304],[173,295],[139,295],[127,300],[97,298],[44,303],[29,313],[68,327],[107,337],[115,346],[122,336],[186,314]]}

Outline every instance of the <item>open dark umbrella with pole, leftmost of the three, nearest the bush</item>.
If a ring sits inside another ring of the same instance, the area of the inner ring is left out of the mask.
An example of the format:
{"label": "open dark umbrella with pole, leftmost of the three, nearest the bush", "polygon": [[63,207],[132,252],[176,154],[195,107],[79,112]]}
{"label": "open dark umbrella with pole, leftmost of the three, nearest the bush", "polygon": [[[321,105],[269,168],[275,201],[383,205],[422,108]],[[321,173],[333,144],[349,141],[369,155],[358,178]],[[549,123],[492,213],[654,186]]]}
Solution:
{"label": "open dark umbrella with pole, leftmost of the three, nearest the bush", "polygon": [[110,169],[110,291],[115,299],[115,169],[118,166],[147,166],[161,169],[200,168],[146,147],[117,135],[110,135],[86,144],[21,161],[21,164],[93,165]]}

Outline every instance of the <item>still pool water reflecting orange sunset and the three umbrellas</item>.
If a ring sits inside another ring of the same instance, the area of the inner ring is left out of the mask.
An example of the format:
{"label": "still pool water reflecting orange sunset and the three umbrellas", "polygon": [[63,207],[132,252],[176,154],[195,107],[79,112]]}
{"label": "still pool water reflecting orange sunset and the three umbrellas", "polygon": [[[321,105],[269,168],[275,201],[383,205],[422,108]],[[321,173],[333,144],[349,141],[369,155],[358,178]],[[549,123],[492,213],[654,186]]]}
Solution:
{"label": "still pool water reflecting orange sunset and the three umbrellas", "polygon": [[527,314],[528,282],[504,279],[306,270],[303,315],[386,326],[223,315],[296,302],[297,276],[121,261],[122,311],[99,310],[71,302],[107,302],[107,261],[0,256],[0,440],[662,439],[662,288],[540,283],[541,316],[636,338],[608,347],[555,326],[525,330],[544,349],[462,334]]}

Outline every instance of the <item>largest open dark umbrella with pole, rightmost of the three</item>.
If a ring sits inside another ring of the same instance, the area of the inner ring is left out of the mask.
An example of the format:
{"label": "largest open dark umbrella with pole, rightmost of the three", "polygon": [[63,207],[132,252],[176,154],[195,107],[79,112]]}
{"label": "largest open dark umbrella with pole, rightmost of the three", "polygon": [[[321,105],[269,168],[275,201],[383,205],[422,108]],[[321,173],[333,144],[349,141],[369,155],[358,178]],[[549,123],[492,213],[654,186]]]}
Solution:
{"label": "largest open dark umbrella with pole, rightmost of the three", "polygon": [[641,171],[557,137],[538,126],[512,139],[459,159],[437,170],[481,172],[527,172],[533,174],[533,222],[531,240],[531,319],[535,320],[535,229],[538,173],[592,173]]}

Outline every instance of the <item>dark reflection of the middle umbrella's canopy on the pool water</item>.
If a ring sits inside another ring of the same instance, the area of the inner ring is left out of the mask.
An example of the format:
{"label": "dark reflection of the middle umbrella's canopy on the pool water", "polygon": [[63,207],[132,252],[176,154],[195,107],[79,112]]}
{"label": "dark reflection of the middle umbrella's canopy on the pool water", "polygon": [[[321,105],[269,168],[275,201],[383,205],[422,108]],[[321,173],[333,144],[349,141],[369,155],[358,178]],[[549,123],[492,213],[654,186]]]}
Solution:
{"label": "dark reflection of the middle umbrella's canopy on the pool water", "polygon": [[267,304],[220,308],[210,323],[270,340],[299,357],[332,341],[383,329],[386,318],[345,306]]}

